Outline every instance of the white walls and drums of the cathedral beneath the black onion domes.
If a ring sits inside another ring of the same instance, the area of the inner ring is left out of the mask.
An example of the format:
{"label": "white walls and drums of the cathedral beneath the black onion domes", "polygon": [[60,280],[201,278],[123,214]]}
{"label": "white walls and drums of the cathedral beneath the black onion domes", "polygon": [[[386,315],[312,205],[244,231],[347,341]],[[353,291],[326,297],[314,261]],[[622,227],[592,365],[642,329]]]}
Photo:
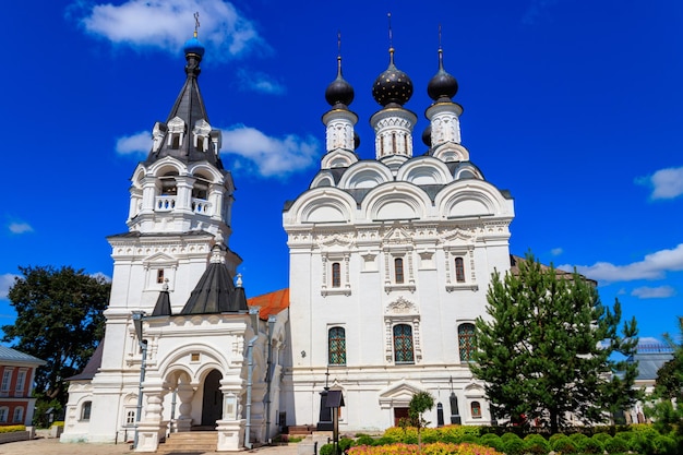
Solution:
{"label": "white walls and drums of the cathedral beneath the black onion domes", "polygon": [[[285,209],[290,424],[319,421],[327,381],[345,398],[340,431],[394,426],[418,391],[442,404],[445,423],[452,392],[463,423],[491,420],[468,368],[467,330],[486,315],[493,270],[510,270],[513,201],[469,161],[459,105],[440,97],[427,110],[430,149],[414,157],[416,116],[399,101],[371,118],[376,159],[360,159],[349,141],[336,139],[357,117],[334,105],[323,116],[321,169]],[[426,418],[438,424],[438,408]]]}

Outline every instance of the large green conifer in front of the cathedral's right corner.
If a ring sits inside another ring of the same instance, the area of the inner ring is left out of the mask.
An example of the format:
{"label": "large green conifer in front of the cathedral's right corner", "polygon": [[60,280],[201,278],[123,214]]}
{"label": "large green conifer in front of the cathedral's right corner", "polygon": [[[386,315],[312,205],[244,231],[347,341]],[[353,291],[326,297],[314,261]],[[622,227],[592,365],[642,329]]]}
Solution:
{"label": "large green conifer in front of the cathedral's right corner", "polygon": [[492,410],[513,423],[538,420],[554,433],[566,412],[587,423],[625,409],[638,397],[635,319],[618,334],[621,307],[600,303],[595,286],[578,275],[559,275],[532,254],[518,274],[495,272],[488,318],[476,322],[472,373],[486,382]]}

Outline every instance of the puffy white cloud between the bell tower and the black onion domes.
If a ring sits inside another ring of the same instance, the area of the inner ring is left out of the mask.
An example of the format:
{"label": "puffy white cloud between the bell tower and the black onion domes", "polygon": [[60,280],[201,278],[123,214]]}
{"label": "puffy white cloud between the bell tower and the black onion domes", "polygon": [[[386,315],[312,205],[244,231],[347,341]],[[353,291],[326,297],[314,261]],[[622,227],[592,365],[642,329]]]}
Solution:
{"label": "puffy white cloud between the bell tower and the black onion domes", "polygon": [[243,124],[223,130],[223,153],[235,159],[232,167],[255,169],[263,177],[286,177],[305,169],[316,160],[317,149],[313,136],[271,137]]}

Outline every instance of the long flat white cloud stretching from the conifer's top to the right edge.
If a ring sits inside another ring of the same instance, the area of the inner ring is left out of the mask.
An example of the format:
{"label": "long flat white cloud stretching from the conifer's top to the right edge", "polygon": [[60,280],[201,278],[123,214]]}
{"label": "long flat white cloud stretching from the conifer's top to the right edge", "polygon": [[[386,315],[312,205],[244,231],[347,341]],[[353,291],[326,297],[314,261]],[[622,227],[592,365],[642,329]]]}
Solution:
{"label": "long flat white cloud stretching from the conifer's top to the right edge", "polygon": [[[558,268],[572,268],[565,264]],[[667,272],[683,271],[683,243],[672,250],[660,250],[647,254],[643,261],[626,265],[597,262],[594,265],[577,265],[578,273],[598,282],[632,282],[635,279],[660,279]]]}

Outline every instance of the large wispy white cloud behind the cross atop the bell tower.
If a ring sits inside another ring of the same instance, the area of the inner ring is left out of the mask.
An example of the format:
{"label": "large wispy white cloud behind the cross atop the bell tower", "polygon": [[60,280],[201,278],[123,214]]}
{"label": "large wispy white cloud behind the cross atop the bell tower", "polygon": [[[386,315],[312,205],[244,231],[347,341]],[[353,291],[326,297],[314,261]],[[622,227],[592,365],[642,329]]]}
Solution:
{"label": "large wispy white cloud behind the cross atop the bell tower", "polygon": [[254,24],[235,5],[223,0],[129,0],[122,4],[96,4],[85,12],[85,29],[115,45],[158,48],[173,55],[194,31],[200,13],[199,38],[211,59],[225,61],[254,48],[267,49]]}

